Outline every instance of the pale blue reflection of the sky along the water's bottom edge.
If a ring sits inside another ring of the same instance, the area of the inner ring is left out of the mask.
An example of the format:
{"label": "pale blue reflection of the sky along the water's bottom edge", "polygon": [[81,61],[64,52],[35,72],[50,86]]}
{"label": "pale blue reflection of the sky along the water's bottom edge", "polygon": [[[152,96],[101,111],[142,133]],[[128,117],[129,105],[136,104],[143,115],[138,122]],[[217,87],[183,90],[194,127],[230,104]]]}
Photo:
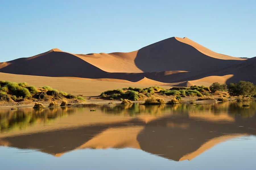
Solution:
{"label": "pale blue reflection of the sky along the water's bottom edge", "polygon": [[254,169],[255,143],[255,136],[235,138],[180,162],[131,148],[82,149],[54,157],[2,146],[0,163],[1,169]]}

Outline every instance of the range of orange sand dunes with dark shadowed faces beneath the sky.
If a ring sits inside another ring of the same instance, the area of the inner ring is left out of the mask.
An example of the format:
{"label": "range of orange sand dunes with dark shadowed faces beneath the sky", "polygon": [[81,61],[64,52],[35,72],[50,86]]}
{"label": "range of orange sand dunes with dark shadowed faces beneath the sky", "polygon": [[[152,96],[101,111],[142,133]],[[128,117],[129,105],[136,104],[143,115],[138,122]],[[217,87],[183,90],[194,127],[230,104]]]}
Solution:
{"label": "range of orange sand dunes with dark shadowed faces beneath the sky", "polygon": [[219,54],[188,38],[178,37],[128,53],[73,54],[55,48],[33,57],[0,63],[0,72],[12,74],[169,86],[240,80],[256,83],[255,68],[256,57],[242,59]]}

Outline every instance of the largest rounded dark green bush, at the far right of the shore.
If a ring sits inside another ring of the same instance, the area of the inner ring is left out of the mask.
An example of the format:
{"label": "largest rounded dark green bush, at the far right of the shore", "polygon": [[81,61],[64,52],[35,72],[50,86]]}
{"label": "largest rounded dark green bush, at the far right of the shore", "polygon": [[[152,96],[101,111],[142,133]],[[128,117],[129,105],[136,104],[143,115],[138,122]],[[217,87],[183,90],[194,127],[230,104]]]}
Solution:
{"label": "largest rounded dark green bush, at the far right of the shore", "polygon": [[252,82],[240,81],[239,83],[230,83],[228,92],[231,96],[253,96],[256,94],[256,86]]}

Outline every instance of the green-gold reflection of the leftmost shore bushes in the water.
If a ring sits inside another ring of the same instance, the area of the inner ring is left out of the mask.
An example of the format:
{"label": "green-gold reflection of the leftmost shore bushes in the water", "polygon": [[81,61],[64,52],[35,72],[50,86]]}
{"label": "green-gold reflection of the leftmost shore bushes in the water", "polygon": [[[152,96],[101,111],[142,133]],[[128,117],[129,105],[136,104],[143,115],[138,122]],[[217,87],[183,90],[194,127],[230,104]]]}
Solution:
{"label": "green-gold reflection of the leftmost shore bushes in the water", "polygon": [[26,129],[37,122],[49,123],[54,119],[66,117],[75,112],[76,108],[32,109],[18,108],[17,110],[1,109],[0,132]]}

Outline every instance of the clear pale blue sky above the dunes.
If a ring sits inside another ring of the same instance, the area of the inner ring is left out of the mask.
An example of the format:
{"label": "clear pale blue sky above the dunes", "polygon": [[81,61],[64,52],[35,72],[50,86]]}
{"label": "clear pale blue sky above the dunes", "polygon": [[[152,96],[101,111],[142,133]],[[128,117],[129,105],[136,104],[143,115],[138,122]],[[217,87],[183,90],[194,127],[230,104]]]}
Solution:
{"label": "clear pale blue sky above the dunes", "polygon": [[256,1],[0,0],[0,62],[52,48],[129,52],[187,37],[235,57],[256,56]]}

